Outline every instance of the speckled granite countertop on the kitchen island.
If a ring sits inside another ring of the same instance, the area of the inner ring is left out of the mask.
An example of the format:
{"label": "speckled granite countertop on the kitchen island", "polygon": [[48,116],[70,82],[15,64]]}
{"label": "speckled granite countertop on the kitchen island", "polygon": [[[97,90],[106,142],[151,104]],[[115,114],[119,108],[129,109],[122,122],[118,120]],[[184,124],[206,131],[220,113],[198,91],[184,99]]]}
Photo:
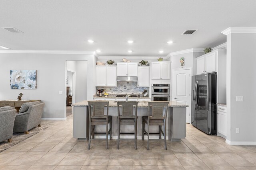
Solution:
{"label": "speckled granite countertop on the kitchen island", "polygon": [[[104,100],[103,102],[106,102],[106,100]],[[138,102],[138,107],[148,107],[148,102],[149,101],[140,101],[140,102]],[[156,102],[156,101],[154,101],[154,102]],[[72,104],[71,106],[88,106],[88,101],[84,100],[82,102]],[[115,101],[109,101],[108,106],[109,107],[117,107],[117,104]],[[168,104],[168,107],[188,107],[188,106],[178,103],[176,101],[170,101]]]}

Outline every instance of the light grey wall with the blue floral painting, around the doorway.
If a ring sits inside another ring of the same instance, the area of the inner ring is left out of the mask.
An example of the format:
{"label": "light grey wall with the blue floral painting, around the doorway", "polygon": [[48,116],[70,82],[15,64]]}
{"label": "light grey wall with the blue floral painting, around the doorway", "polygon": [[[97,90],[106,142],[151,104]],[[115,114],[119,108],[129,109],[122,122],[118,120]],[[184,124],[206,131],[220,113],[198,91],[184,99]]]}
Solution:
{"label": "light grey wall with the blue floral painting, around the doorway", "polygon": [[[23,100],[45,102],[43,118],[65,118],[66,61],[88,61],[87,99],[95,94],[95,65],[97,58],[86,54],[0,54],[0,100],[16,100],[22,92]],[[37,70],[37,89],[10,89],[10,70]],[[63,94],[59,95],[59,91]],[[79,101],[76,101],[79,102]]]}

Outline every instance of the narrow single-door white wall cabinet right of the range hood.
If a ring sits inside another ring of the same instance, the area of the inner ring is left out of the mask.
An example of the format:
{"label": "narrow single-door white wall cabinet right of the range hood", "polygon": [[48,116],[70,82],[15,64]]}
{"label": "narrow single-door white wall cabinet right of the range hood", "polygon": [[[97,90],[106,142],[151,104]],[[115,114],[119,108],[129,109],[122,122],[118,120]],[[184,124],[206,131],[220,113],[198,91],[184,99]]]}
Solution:
{"label": "narrow single-door white wall cabinet right of the range hood", "polygon": [[138,86],[149,87],[149,66],[138,66]]}

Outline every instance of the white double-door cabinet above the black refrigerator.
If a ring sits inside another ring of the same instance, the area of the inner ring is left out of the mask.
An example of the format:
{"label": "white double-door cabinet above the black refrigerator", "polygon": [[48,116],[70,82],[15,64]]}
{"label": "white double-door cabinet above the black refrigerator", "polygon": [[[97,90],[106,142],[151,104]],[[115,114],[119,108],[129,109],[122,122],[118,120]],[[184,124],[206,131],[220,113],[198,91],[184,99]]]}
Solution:
{"label": "white double-door cabinet above the black refrigerator", "polygon": [[210,52],[196,58],[196,74],[216,72],[216,54],[217,52]]}

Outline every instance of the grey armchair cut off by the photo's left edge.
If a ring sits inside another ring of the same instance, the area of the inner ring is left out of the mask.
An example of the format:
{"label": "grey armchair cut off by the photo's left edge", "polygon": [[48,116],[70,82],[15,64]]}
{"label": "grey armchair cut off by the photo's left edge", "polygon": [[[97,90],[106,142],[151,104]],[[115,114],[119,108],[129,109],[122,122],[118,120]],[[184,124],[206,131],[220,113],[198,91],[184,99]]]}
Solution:
{"label": "grey armchair cut off by the photo's left edge", "polygon": [[8,140],[12,141],[12,130],[16,109],[10,106],[0,107],[0,142]]}

